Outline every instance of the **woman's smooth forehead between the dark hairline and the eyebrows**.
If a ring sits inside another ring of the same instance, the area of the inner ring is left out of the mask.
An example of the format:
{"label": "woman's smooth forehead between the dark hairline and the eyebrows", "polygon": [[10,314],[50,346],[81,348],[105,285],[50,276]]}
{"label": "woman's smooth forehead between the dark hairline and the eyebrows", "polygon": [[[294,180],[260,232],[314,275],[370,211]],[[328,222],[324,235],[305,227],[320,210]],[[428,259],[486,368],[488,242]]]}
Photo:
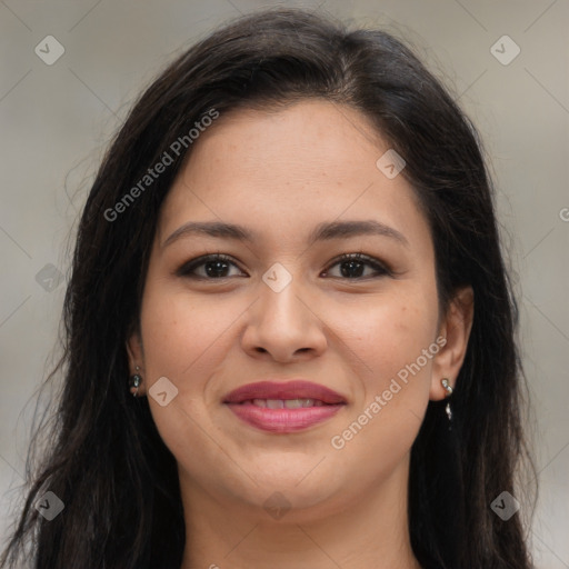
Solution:
{"label": "woman's smooth forehead between the dark hairline and the eyebrows", "polygon": [[377,166],[388,150],[363,114],[326,101],[222,114],[194,141],[162,207],[160,239],[190,219],[248,221],[276,238],[290,238],[291,222],[308,233],[342,216],[425,231],[410,184]]}

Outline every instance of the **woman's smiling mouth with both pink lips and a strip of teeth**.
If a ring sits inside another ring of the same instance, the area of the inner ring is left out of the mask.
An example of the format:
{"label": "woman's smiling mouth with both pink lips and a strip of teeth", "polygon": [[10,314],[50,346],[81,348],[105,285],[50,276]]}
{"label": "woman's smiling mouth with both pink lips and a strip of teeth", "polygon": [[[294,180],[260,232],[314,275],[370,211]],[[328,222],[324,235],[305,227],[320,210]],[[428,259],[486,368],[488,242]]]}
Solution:
{"label": "woman's smiling mouth with both pink lips and a strip of teeth", "polygon": [[309,381],[260,381],[231,391],[223,403],[246,423],[287,433],[308,429],[333,417],[347,405],[331,389]]}

